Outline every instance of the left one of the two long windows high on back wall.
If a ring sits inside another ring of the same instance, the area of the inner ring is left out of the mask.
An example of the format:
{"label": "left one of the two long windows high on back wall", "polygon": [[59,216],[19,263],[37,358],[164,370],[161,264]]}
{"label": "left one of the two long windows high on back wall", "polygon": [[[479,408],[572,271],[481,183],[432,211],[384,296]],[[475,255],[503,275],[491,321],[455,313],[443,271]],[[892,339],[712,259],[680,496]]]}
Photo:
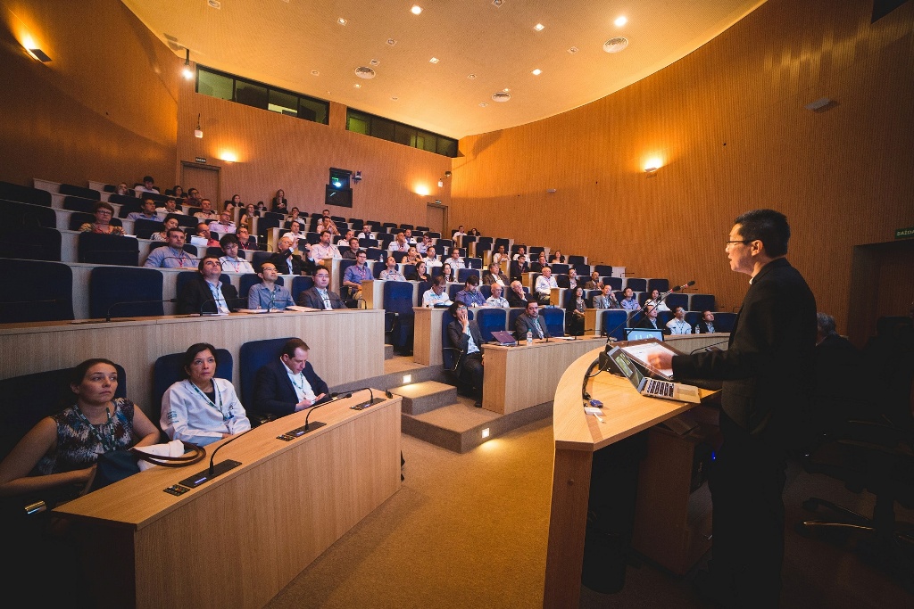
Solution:
{"label": "left one of the two long windows high on back wall", "polygon": [[212,68],[197,66],[197,93],[327,124],[330,102],[310,98]]}

